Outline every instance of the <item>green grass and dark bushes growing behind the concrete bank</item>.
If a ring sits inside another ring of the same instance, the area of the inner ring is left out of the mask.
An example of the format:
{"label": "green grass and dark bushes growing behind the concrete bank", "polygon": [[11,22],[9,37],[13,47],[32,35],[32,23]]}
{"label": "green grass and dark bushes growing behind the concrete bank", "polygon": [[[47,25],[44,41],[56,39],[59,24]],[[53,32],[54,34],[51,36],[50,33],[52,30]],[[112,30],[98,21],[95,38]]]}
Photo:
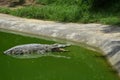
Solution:
{"label": "green grass and dark bushes growing behind the concrete bank", "polygon": [[0,8],[20,17],[78,23],[120,25],[120,0],[36,0],[19,9]]}

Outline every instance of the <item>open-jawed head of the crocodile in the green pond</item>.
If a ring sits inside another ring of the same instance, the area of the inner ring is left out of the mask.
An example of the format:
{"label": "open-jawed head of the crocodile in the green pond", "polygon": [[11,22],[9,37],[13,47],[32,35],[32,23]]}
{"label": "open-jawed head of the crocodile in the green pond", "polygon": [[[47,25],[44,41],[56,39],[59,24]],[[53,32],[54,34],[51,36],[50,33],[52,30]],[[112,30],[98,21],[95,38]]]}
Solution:
{"label": "open-jawed head of the crocodile in the green pond", "polygon": [[68,47],[70,44],[53,44],[52,45],[52,52],[66,52],[68,50],[63,49],[64,47]]}

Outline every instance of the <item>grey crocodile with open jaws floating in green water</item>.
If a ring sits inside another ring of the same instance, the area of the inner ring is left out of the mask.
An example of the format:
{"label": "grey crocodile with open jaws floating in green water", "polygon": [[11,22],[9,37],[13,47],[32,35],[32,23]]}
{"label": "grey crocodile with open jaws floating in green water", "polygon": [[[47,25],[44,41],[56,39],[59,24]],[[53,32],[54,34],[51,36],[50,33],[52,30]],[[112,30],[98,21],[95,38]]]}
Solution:
{"label": "grey crocodile with open jaws floating in green water", "polygon": [[64,47],[70,46],[70,44],[23,44],[14,46],[6,51],[4,54],[7,55],[23,55],[23,54],[45,54],[47,52],[66,52],[68,50],[63,49]]}

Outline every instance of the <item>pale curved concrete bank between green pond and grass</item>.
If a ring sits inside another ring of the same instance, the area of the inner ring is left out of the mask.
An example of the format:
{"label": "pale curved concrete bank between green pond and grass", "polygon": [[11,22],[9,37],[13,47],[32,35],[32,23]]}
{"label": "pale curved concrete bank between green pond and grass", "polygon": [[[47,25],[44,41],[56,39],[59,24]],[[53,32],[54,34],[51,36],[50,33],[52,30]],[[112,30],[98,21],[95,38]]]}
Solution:
{"label": "pale curved concrete bank between green pond and grass", "polygon": [[84,42],[98,47],[120,75],[120,27],[101,24],[59,23],[0,14],[0,29]]}

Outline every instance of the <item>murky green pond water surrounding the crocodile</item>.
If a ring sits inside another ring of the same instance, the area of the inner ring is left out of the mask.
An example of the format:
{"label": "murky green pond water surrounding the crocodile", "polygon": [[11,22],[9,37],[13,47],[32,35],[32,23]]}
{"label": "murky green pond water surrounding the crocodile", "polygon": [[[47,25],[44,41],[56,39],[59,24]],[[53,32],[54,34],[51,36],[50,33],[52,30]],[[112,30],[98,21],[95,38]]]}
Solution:
{"label": "murky green pond water surrounding the crocodile", "polygon": [[[3,51],[19,44],[53,44],[54,41],[0,32],[0,80],[120,80],[105,59],[97,52],[70,46],[70,52],[53,53],[56,56],[14,58]],[[69,57],[69,58],[68,58]]]}

